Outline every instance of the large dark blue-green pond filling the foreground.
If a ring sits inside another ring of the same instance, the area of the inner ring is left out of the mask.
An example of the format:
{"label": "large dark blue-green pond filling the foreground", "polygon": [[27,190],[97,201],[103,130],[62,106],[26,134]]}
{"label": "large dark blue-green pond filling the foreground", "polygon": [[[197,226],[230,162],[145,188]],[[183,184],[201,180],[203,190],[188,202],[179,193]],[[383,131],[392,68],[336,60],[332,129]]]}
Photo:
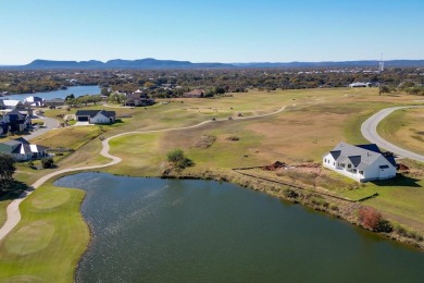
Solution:
{"label": "large dark blue-green pond filling the foreground", "polygon": [[76,282],[424,282],[424,254],[229,183],[79,173]]}

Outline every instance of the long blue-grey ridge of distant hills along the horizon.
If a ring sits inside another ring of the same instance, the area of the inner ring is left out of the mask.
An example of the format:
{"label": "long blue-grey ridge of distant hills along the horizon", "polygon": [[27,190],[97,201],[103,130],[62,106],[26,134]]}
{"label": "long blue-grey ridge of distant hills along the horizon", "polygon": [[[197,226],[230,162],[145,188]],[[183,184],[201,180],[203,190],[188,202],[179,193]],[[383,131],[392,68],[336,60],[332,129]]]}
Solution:
{"label": "long blue-grey ridge of distant hills along the horizon", "polygon": [[[385,61],[386,67],[424,67],[424,60],[389,60]],[[99,69],[127,69],[127,70],[158,70],[158,69],[228,69],[228,67],[377,67],[376,60],[361,61],[324,61],[324,62],[257,62],[257,63],[191,63],[189,61],[157,60],[153,58],[138,60],[115,59],[108,62],[90,61],[51,61],[35,60],[26,65],[0,65],[0,69],[9,70],[99,70]]]}

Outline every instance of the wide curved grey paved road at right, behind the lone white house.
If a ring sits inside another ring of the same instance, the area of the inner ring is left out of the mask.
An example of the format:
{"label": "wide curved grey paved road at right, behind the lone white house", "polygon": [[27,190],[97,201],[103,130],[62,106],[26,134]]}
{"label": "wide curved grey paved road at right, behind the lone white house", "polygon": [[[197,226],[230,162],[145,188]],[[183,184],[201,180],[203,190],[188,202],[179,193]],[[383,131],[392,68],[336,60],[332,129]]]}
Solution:
{"label": "wide curved grey paved road at right, behind the lone white house", "polygon": [[377,134],[377,125],[378,123],[385,119],[387,115],[389,115],[391,112],[400,109],[407,109],[407,108],[422,108],[423,106],[408,106],[408,107],[391,107],[383,109],[382,111],[375,113],[374,115],[370,116],[361,126],[361,133],[362,135],[370,140],[371,143],[376,144],[379,147],[385,148],[388,151],[391,151],[396,155],[399,155],[401,157],[406,157],[412,160],[416,160],[420,162],[424,162],[424,156],[409,151],[407,149],[400,148],[383,137],[381,137]]}

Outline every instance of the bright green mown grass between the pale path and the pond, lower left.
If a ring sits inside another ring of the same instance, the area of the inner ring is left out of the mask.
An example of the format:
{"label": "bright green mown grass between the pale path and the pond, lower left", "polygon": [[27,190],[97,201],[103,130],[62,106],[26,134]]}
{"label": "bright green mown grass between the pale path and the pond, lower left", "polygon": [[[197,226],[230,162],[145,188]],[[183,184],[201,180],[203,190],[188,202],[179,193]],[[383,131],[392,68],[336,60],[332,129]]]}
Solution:
{"label": "bright green mown grass between the pale path and the pond, lower left", "polygon": [[47,184],[22,202],[20,224],[0,242],[1,282],[73,282],[89,242],[83,198],[83,190]]}

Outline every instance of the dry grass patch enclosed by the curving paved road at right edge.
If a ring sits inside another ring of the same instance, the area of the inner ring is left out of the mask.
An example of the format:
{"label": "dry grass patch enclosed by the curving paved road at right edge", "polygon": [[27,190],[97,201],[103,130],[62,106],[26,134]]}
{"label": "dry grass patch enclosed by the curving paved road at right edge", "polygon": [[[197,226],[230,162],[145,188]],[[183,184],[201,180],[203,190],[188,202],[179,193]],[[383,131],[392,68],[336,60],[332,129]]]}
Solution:
{"label": "dry grass patch enclosed by the curving paved road at right edge", "polygon": [[390,143],[424,155],[424,108],[392,112],[377,126],[378,134]]}

